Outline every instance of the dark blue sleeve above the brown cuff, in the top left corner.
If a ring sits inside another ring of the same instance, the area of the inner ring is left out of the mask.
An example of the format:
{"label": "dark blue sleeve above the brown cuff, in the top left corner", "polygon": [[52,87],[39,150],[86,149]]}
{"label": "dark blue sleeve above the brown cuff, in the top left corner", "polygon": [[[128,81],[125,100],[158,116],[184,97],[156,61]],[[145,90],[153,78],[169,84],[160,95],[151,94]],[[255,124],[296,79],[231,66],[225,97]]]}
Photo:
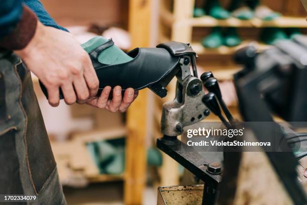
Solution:
{"label": "dark blue sleeve above the brown cuff, in the top left corner", "polygon": [[12,32],[23,13],[21,0],[1,0],[0,3],[0,37]]}

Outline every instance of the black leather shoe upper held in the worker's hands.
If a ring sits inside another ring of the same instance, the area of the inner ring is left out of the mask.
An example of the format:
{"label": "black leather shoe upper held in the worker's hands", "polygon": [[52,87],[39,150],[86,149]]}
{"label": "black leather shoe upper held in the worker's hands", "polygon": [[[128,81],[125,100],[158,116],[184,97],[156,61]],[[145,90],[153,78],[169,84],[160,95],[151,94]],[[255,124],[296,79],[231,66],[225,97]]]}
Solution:
{"label": "black leather shoe upper held in the worker's hands", "polygon": [[[103,46],[106,44],[107,46]],[[107,85],[120,85],[123,90],[128,87],[143,89],[161,80],[179,63],[179,57],[172,56],[164,48],[135,48],[127,53],[133,60],[117,65],[104,65],[98,62],[97,56],[113,45],[113,41],[110,39],[103,45],[89,54],[99,79],[99,89]]]}

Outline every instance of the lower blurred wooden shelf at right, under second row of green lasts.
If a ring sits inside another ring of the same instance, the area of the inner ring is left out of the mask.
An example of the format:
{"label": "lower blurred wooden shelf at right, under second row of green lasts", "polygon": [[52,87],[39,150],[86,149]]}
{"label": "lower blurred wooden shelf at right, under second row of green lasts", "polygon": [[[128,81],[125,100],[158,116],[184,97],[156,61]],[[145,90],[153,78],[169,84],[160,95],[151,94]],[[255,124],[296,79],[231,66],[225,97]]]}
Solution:
{"label": "lower blurred wooden shelf at right, under second row of green lasts", "polygon": [[198,42],[191,43],[191,46],[198,55],[203,55],[203,54],[231,55],[231,54],[234,54],[238,49],[243,48],[251,43],[255,44],[256,47],[258,47],[258,51],[263,51],[270,47],[270,45],[258,43],[255,41],[243,41],[240,45],[235,46],[235,47],[220,46],[219,48],[204,48],[201,45],[201,43],[198,43]]}

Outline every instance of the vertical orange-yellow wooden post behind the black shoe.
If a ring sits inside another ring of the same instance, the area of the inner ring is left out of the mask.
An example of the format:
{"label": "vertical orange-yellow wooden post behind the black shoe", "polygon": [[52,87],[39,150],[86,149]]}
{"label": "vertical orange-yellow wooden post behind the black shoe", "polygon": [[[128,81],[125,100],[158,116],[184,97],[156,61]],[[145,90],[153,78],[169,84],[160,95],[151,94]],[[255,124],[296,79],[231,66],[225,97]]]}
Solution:
{"label": "vertical orange-yellow wooden post behind the black shoe", "polygon": [[[130,0],[128,28],[132,48],[148,47],[150,42],[151,0]],[[147,89],[141,90],[127,112],[126,170],[124,203],[142,204],[146,171]]]}

